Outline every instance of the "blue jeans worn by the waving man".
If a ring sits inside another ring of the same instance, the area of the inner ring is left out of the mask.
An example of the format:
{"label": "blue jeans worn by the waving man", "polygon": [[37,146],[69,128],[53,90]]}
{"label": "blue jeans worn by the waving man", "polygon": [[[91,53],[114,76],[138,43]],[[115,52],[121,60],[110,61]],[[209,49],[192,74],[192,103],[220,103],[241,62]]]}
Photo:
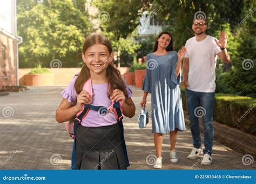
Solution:
{"label": "blue jeans worn by the waving man", "polygon": [[204,153],[212,154],[212,145],[214,138],[213,129],[213,110],[214,110],[214,92],[204,93],[186,89],[187,112],[190,119],[190,130],[193,137],[193,145],[196,148],[201,147],[200,128],[198,117],[203,118],[204,125]]}

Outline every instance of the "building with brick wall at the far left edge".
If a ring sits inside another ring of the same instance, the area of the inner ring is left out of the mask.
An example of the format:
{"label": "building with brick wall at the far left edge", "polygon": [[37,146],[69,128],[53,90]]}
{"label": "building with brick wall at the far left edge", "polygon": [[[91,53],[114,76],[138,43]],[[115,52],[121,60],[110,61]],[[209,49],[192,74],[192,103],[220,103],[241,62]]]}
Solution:
{"label": "building with brick wall at the far left edge", "polygon": [[0,89],[19,86],[16,0],[0,1]]}

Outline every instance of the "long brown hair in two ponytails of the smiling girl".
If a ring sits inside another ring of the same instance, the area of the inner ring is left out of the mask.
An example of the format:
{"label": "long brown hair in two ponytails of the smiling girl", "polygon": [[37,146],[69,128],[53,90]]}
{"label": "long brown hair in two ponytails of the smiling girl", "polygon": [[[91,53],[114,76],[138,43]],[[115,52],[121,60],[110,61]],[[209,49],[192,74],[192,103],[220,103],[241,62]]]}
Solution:
{"label": "long brown hair in two ponytails of the smiling girl", "polygon": [[[112,53],[112,46],[110,44],[109,39],[107,39],[102,34],[91,34],[88,36],[83,44],[83,53],[85,54],[85,51],[87,48],[91,47],[94,44],[102,44],[105,45],[109,51],[109,53]],[[84,66],[82,67],[76,82],[75,82],[75,89],[77,94],[80,94],[80,92],[83,90],[84,83],[91,77],[90,69],[86,66],[86,63],[84,63]],[[122,79],[120,71],[114,67],[113,62],[109,63],[109,66],[106,68],[106,77],[107,81],[109,82],[109,90],[107,91],[107,96],[110,97],[110,95],[113,93],[114,89],[119,89],[123,91],[124,95],[127,97],[127,91],[125,83]]]}

